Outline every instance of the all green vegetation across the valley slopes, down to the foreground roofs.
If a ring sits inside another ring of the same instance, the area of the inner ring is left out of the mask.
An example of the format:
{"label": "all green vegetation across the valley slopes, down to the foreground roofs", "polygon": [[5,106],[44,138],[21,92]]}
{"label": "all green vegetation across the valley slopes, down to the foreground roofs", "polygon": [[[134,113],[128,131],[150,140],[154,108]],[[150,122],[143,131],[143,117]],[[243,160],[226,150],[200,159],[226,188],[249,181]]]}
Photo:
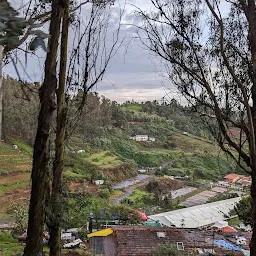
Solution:
{"label": "all green vegetation across the valley slopes, down to the foreground roofs", "polygon": [[[18,81],[5,81],[4,138],[0,148],[0,214],[19,214],[16,232],[26,226],[24,206],[28,205],[31,156],[36,115],[37,86],[28,84],[26,99]],[[76,98],[72,100],[76,104]],[[166,196],[166,189],[181,185],[161,178],[181,175],[193,182],[221,179],[229,172],[241,170],[214,144],[203,122],[195,120],[188,107],[175,100],[170,103],[126,102],[117,104],[96,93],[87,96],[81,113],[69,111],[65,150],[65,191],[62,227],[81,227],[93,213],[99,226],[119,216],[122,223],[138,223],[134,209],[147,213],[178,209],[179,199]],[[28,114],[29,112],[29,114]],[[18,120],[18,122],[17,122]],[[54,130],[55,127],[52,127]],[[155,141],[134,141],[129,136],[145,134]],[[54,141],[52,136],[52,142]],[[12,145],[17,145],[15,149]],[[156,179],[113,205],[111,184],[137,175],[139,168],[151,168]],[[103,179],[104,185],[93,182]],[[8,196],[6,196],[8,193]],[[15,200],[9,200],[9,198]],[[17,199],[17,200],[16,200]],[[23,206],[20,207],[20,206]],[[19,210],[17,212],[17,209]],[[50,212],[47,214],[50,218]],[[131,216],[133,218],[131,218]]]}

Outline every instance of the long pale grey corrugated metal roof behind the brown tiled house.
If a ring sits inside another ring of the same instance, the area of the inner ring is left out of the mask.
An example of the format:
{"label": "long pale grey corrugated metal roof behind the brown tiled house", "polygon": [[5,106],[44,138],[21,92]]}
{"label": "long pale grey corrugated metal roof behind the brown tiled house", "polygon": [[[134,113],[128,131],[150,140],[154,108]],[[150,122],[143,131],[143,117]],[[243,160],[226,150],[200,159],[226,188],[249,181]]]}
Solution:
{"label": "long pale grey corrugated metal roof behind the brown tiled house", "polygon": [[197,205],[170,212],[148,216],[149,219],[159,221],[166,226],[198,228],[225,220],[224,215],[234,208],[234,204],[241,198],[231,198],[209,204]]}

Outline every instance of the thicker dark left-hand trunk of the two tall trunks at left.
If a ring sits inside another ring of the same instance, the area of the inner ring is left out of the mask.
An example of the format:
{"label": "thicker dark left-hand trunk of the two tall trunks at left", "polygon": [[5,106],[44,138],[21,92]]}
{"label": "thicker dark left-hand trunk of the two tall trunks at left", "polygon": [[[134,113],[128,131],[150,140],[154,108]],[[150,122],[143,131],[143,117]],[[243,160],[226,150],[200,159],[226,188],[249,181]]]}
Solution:
{"label": "thicker dark left-hand trunk of the two tall trunks at left", "polygon": [[56,109],[55,91],[57,88],[56,59],[62,5],[60,0],[52,1],[50,23],[49,52],[45,61],[45,77],[40,88],[40,112],[34,144],[32,189],[29,205],[29,219],[24,256],[41,256],[43,254],[43,228],[45,213],[45,193],[49,182],[48,162],[50,158],[50,127],[53,111]]}

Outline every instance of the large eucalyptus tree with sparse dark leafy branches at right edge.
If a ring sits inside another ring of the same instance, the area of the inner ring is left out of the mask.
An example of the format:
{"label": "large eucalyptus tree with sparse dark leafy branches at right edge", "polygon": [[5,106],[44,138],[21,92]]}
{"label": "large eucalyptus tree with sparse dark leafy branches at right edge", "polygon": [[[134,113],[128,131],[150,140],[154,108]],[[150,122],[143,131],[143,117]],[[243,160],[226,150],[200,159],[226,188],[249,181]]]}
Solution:
{"label": "large eucalyptus tree with sparse dark leafy branches at right edge", "polygon": [[152,12],[137,12],[143,43],[161,57],[172,84],[209,125],[220,148],[252,177],[250,250],[256,255],[255,0],[151,4]]}

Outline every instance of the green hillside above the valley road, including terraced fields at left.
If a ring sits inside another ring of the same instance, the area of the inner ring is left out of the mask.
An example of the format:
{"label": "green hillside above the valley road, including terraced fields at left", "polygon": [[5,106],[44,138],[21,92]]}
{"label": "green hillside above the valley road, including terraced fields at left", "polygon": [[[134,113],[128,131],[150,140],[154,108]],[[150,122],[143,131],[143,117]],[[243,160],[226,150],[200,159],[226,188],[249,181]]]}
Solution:
{"label": "green hillside above the valley road, including terraced fields at left", "polygon": [[[4,107],[6,143],[0,145],[2,215],[9,214],[10,206],[16,201],[29,198],[32,141],[37,119],[37,112],[32,110],[27,119],[28,106],[21,104],[20,98],[12,97],[18,88],[12,89],[10,84],[6,94],[8,104]],[[31,106],[37,105],[36,97],[33,100]],[[26,122],[17,125],[14,116]],[[104,179],[110,186],[136,176],[142,167],[154,168],[159,176],[187,175],[190,180],[200,182],[240,172],[219,150],[196,114],[175,100],[169,104],[156,101],[117,104],[92,93],[88,94],[79,118],[70,117],[70,120],[75,123],[75,129],[70,128],[72,133],[66,142],[64,178],[71,188],[74,184],[86,184],[89,190],[101,193],[91,187],[93,180]],[[155,141],[129,139],[136,134],[149,135]],[[54,137],[51,142],[53,150]],[[14,144],[18,149],[13,148]]]}

